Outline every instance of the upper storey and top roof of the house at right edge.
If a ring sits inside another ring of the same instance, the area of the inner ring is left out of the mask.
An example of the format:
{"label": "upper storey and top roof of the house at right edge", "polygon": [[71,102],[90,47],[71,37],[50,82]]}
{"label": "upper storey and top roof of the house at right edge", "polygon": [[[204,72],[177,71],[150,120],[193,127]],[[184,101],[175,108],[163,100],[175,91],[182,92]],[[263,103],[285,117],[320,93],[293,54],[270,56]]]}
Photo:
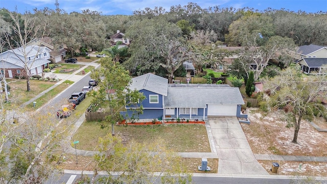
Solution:
{"label": "upper storey and top roof of the house at right edge", "polygon": [[327,47],[310,44],[298,47],[295,59],[302,58],[327,58]]}

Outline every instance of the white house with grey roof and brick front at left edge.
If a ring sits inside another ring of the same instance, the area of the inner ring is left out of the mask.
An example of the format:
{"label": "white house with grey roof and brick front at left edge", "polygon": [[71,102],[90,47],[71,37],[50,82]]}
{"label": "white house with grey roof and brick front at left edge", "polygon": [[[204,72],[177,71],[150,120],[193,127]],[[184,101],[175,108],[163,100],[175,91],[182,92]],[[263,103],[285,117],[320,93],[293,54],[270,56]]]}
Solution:
{"label": "white house with grey roof and brick front at left edge", "polygon": [[[30,45],[25,48],[27,53],[27,65],[30,68],[31,75],[40,75],[44,68],[48,67],[51,62],[51,50],[47,47],[39,47],[38,45]],[[25,71],[25,61],[23,48],[16,48],[0,54],[0,68],[2,75],[6,78],[15,76],[27,76]]]}

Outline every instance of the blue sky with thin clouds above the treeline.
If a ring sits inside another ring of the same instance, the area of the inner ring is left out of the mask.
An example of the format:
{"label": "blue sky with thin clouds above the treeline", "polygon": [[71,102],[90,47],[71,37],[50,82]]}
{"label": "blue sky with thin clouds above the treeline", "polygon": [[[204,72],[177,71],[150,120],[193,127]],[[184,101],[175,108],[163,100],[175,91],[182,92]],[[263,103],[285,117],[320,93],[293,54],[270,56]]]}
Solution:
{"label": "blue sky with thin clouds above the treeline", "polygon": [[[219,6],[220,8],[233,7],[236,9],[250,7],[263,11],[267,8],[285,9],[307,13],[327,12],[327,0],[57,0],[59,8],[67,13],[79,12],[89,9],[101,12],[102,15],[132,15],[134,10],[144,8],[163,7],[169,11],[171,6],[185,6],[189,2],[196,3],[202,9]],[[14,11],[17,7],[19,13],[33,12],[34,8],[43,9],[48,7],[56,9],[56,0],[0,0],[0,8]]]}

